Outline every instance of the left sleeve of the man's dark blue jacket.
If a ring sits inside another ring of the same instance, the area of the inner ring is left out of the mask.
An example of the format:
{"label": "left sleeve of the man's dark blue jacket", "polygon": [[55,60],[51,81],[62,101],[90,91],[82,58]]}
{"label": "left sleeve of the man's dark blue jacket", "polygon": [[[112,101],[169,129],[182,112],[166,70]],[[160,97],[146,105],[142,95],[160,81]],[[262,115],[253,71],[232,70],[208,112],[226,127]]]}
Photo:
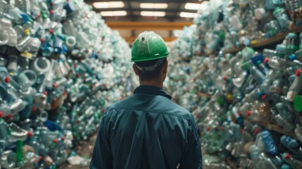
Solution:
{"label": "left sleeve of the man's dark blue jacket", "polygon": [[[108,113],[108,112],[107,112]],[[103,115],[99,132],[94,144],[94,151],[92,153],[92,161],[90,162],[91,169],[113,168],[113,157],[111,154],[111,146],[108,134],[108,117],[107,113]]]}

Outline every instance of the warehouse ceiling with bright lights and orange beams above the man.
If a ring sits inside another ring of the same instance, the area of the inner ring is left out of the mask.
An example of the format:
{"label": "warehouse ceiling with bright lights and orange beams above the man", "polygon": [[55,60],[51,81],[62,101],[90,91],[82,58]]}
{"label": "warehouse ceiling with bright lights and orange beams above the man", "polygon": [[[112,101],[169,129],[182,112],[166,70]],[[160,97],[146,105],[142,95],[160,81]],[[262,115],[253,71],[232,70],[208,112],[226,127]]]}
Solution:
{"label": "warehouse ceiling with bright lights and orange beams above the man", "polygon": [[[193,24],[193,17],[202,3],[201,0],[84,1],[92,5],[94,11],[101,13],[106,24],[118,30],[130,43],[144,30],[155,31],[165,42],[172,42],[176,38],[173,30],[182,30],[184,26]],[[99,8],[95,4],[98,2],[101,4]]]}

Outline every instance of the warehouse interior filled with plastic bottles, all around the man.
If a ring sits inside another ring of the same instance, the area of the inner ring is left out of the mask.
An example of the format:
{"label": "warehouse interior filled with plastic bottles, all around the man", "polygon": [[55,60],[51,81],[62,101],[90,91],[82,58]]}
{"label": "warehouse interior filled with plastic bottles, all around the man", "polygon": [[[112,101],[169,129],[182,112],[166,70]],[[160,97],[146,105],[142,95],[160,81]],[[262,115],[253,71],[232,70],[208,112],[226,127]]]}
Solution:
{"label": "warehouse interior filled with plastic bottles, all around the man", "polygon": [[89,168],[144,31],[203,168],[302,168],[301,0],[0,0],[0,168]]}

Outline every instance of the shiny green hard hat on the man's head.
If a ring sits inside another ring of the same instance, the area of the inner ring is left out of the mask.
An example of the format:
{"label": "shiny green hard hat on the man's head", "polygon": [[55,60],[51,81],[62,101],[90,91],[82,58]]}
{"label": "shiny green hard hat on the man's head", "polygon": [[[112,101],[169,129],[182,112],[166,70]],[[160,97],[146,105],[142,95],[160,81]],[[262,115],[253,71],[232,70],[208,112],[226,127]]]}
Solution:
{"label": "shiny green hard hat on the man's head", "polygon": [[142,32],[133,42],[131,61],[151,61],[158,58],[168,57],[167,46],[163,38],[154,32]]}

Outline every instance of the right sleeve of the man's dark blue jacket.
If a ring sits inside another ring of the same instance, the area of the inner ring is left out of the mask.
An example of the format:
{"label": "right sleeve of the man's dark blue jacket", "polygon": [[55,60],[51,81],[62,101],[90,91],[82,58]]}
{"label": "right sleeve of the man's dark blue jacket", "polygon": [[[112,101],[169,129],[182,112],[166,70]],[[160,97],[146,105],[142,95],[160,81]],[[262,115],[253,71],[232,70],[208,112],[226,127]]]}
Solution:
{"label": "right sleeve of the man's dark blue jacket", "polygon": [[188,125],[188,142],[182,154],[180,168],[202,169],[201,142],[193,115],[191,115]]}

